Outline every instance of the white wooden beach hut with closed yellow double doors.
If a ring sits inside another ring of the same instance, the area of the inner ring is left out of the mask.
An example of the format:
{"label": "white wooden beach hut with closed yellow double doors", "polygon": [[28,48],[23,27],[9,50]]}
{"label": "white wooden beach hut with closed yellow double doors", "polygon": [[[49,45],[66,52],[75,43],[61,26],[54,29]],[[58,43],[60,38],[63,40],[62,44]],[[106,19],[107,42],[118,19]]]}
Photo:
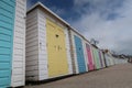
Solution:
{"label": "white wooden beach hut with closed yellow double doors", "polygon": [[67,23],[41,2],[26,14],[26,80],[72,75]]}

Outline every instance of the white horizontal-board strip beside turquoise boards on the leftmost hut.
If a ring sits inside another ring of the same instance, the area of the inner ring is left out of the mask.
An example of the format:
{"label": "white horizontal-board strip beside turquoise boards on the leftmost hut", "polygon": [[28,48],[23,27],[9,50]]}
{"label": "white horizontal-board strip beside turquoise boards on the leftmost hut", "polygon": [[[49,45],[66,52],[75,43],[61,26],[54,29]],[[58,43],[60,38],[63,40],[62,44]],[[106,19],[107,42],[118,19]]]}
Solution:
{"label": "white horizontal-board strip beside turquoise boards on the leftmost hut", "polygon": [[26,0],[15,0],[11,87],[25,85]]}

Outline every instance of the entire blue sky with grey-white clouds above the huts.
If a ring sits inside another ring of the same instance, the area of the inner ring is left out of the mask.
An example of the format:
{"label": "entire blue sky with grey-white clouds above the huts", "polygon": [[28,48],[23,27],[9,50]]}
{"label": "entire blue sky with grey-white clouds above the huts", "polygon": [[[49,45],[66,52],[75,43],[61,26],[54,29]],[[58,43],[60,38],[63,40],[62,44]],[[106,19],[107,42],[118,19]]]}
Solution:
{"label": "entire blue sky with grey-white clouds above the huts", "polygon": [[28,0],[50,8],[100,48],[132,55],[132,0]]}

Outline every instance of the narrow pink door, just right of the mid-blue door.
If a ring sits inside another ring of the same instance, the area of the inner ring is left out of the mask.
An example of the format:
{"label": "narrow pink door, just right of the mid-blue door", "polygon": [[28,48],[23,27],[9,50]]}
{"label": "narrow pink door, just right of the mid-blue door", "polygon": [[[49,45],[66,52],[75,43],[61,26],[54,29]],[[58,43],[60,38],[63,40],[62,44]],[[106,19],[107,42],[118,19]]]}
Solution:
{"label": "narrow pink door, just right of the mid-blue door", "polygon": [[88,55],[88,68],[89,70],[94,70],[92,55],[91,55],[90,46],[88,44],[86,44],[86,50]]}

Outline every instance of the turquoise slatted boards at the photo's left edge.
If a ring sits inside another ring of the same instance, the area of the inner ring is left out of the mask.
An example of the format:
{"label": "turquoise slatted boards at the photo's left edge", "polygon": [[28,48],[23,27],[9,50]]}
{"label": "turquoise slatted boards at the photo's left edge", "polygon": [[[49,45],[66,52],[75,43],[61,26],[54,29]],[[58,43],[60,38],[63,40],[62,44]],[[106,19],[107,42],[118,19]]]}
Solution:
{"label": "turquoise slatted boards at the photo's left edge", "polygon": [[0,0],[0,88],[11,85],[15,0]]}

